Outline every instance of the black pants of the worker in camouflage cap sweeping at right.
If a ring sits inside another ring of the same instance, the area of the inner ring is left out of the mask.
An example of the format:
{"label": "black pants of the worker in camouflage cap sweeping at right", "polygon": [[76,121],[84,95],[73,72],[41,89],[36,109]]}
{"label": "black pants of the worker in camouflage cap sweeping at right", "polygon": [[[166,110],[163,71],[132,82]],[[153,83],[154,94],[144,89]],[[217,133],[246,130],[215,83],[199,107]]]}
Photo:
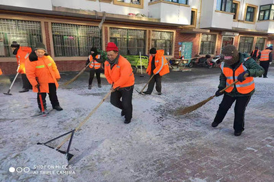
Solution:
{"label": "black pants of the worker in camouflage cap sweeping at right", "polygon": [[249,103],[249,100],[251,99],[251,96],[223,96],[223,101],[219,105],[219,109],[217,111],[217,114],[214,118],[214,122],[222,122],[223,118],[225,118],[225,114],[227,114],[228,109],[232,106],[234,101],[236,101],[235,107],[234,107],[234,130],[236,132],[244,131],[245,129],[245,108],[247,107],[247,104]]}

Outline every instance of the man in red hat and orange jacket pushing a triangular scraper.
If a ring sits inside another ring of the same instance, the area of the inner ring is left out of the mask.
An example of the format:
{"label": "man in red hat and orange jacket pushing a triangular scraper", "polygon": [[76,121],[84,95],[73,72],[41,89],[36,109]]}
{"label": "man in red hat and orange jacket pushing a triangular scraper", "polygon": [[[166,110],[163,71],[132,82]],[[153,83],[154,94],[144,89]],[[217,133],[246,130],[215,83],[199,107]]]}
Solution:
{"label": "man in red hat and orange jacket pushing a triangular scraper", "polygon": [[[112,85],[110,103],[122,109],[121,116],[125,116],[125,124],[132,120],[132,92],[134,89],[134,73],[132,65],[119,54],[114,42],[108,42],[106,48],[105,78]],[[122,98],[122,101],[121,101]]]}

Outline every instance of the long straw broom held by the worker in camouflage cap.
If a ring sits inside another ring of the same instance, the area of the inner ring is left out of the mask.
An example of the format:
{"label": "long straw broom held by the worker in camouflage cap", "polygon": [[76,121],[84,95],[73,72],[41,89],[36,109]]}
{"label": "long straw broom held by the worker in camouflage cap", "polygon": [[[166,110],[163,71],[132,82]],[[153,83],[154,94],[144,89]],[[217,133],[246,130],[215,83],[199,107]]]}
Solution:
{"label": "long straw broom held by the worker in camouflage cap", "polygon": [[[248,73],[246,73],[244,75],[244,77],[247,77]],[[226,88],[224,88],[223,90],[221,90],[220,92],[225,92],[225,90],[227,90],[227,88],[230,88],[232,86],[235,85],[235,83],[237,83],[238,80],[234,81],[233,83],[231,83],[229,86],[227,86]],[[215,95],[214,95],[215,96]],[[203,105],[205,105],[206,103],[208,103],[208,101],[210,101],[211,99],[214,98],[214,96],[210,96],[208,99],[201,101],[200,103],[197,103],[195,105],[192,105],[190,107],[185,107],[184,109],[177,109],[177,111],[175,112],[176,115],[184,115],[184,114],[188,114],[192,111],[195,111],[196,109],[198,109],[199,107],[202,107]]]}

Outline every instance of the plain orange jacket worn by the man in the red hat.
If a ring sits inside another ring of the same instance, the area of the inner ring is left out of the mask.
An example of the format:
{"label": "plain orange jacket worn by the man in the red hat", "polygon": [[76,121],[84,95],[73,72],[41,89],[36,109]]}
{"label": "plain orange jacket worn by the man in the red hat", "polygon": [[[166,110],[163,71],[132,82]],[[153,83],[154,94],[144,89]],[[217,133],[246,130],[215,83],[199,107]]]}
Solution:
{"label": "plain orange jacket worn by the man in the red hat", "polygon": [[134,74],[132,72],[132,65],[120,55],[118,64],[110,68],[110,63],[105,62],[105,77],[108,83],[113,84],[113,88],[124,88],[134,85]]}

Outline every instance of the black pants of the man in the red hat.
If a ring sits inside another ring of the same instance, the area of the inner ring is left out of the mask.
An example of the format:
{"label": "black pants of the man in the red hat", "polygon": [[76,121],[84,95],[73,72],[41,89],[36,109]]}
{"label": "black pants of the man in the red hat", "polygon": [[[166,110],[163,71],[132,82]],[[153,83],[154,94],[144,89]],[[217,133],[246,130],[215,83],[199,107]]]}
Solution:
{"label": "black pants of the man in the red hat", "polygon": [[[123,110],[125,120],[132,119],[132,92],[134,86],[120,88],[110,94],[110,103]],[[121,101],[122,98],[122,101]]]}

